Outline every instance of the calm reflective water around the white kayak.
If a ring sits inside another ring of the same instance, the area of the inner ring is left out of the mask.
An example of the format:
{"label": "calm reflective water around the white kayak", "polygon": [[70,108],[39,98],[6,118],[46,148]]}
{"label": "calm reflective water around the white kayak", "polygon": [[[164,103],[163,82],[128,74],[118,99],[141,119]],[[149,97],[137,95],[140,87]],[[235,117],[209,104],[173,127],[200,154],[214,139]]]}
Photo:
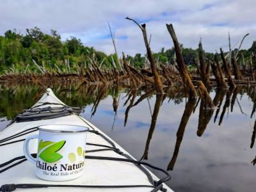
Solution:
{"label": "calm reflective water around the white kayak", "polygon": [[[51,88],[66,104],[83,107],[84,118],[136,159],[169,170],[173,190],[255,191],[255,88],[212,90],[214,111],[182,93],[161,97],[106,86]],[[32,85],[1,86],[0,129],[43,92]]]}

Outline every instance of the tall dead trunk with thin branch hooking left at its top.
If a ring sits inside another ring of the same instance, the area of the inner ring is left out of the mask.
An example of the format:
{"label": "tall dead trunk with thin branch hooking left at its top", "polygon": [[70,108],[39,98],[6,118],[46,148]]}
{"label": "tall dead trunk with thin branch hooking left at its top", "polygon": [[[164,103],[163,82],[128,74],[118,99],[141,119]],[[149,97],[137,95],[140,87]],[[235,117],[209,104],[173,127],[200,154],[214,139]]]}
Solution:
{"label": "tall dead trunk with thin branch hooking left at its top", "polygon": [[153,54],[152,54],[150,46],[148,44],[146,24],[140,25],[140,24],[138,24],[138,22],[136,22],[136,20],[131,19],[129,17],[126,17],[125,19],[132,20],[141,29],[141,31],[143,33],[143,38],[144,38],[145,46],[146,46],[146,49],[147,49],[148,60],[150,62],[150,67],[151,67],[151,70],[152,70],[152,73],[153,73],[153,76],[154,76],[156,90],[157,90],[158,93],[164,93],[163,84],[162,84],[161,78],[159,77],[159,72],[157,70]]}

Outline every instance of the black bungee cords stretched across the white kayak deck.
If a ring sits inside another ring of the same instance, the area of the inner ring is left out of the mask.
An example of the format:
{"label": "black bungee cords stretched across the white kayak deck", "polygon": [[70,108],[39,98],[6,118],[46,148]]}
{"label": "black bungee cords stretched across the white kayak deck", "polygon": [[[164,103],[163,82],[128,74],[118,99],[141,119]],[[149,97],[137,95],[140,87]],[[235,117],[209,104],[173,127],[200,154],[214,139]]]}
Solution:
{"label": "black bungee cords stretched across the white kayak deck", "polygon": [[[53,103],[48,103],[48,102],[42,103],[42,104],[40,104],[40,106],[45,105],[45,104],[53,104]],[[26,113],[26,115],[24,114],[24,116],[22,116],[22,114],[20,114],[20,117],[22,117],[22,118],[20,118],[20,120],[22,119],[22,121],[31,121],[31,120],[38,120],[38,118],[42,118],[42,117],[43,117],[42,119],[50,119],[50,118],[52,118],[52,116],[51,116],[52,113],[54,113],[53,116],[58,116],[58,117],[76,114],[77,116],[79,116],[81,118],[81,115],[74,112],[74,110],[72,110],[72,108],[69,108],[68,106],[67,106],[68,108],[66,108],[65,105],[62,105],[62,106],[63,107],[61,107],[61,108],[54,108],[54,110],[51,110],[51,108],[44,108],[43,111],[44,111],[45,115],[40,114],[40,110],[31,108],[32,109],[30,111],[31,115],[29,115],[29,110],[26,110],[26,111],[24,111]],[[38,107],[38,106],[35,106],[35,107]],[[47,111],[47,112],[45,112],[45,111]],[[49,113],[49,115],[47,113]],[[40,114],[40,115],[38,115],[38,114]],[[38,115],[38,116],[35,116],[35,115]],[[83,118],[81,118],[81,120],[83,120]],[[11,124],[13,124],[13,122],[16,122],[16,121],[17,121],[17,118],[15,118],[11,122]],[[97,159],[97,160],[106,160],[106,161],[122,161],[122,162],[127,162],[127,163],[134,163],[138,168],[140,168],[140,170],[143,173],[145,173],[145,175],[147,175],[147,178],[152,185],[109,185],[109,186],[98,185],[98,186],[93,186],[93,185],[60,185],[60,184],[58,184],[58,185],[52,185],[52,184],[3,184],[0,188],[0,191],[1,192],[10,192],[10,191],[15,191],[15,189],[28,189],[28,188],[154,188],[154,189],[152,189],[152,192],[156,192],[159,190],[167,191],[165,188],[163,188],[163,182],[166,182],[171,179],[171,176],[168,172],[166,172],[165,170],[163,170],[161,168],[153,166],[152,164],[149,164],[149,163],[146,163],[143,161],[136,161],[128,154],[125,154],[124,152],[122,152],[119,148],[116,148],[115,143],[113,143],[113,141],[109,140],[106,136],[104,136],[104,134],[101,134],[99,131],[96,131],[85,120],[83,120],[83,121],[92,129],[89,132],[92,132],[94,134],[101,136],[104,140],[108,141],[109,145],[111,145],[111,146],[108,146],[108,145],[101,145],[101,144],[97,144],[97,143],[86,143],[86,145],[94,145],[97,147],[102,147],[102,148],[95,149],[95,150],[87,150],[86,153],[99,152],[99,151],[104,151],[104,150],[113,150],[117,154],[120,154],[121,156],[125,157],[125,158],[117,158],[117,157],[86,156],[85,157],[86,159]],[[32,127],[30,129],[19,132],[17,134],[13,134],[12,136],[9,136],[8,138],[4,138],[4,139],[0,140],[0,147],[3,145],[10,145],[12,143],[17,143],[19,141],[24,141],[24,139],[15,140],[15,141],[11,141],[11,140],[13,140],[15,138],[19,138],[20,136],[24,136],[31,132],[35,132],[37,130],[38,130],[37,127]],[[7,142],[7,141],[9,141],[9,142]],[[32,156],[36,157],[36,154],[32,154]],[[18,164],[23,163],[26,160],[27,159],[25,156],[20,156],[20,157],[15,157],[15,158],[11,159],[10,161],[6,161],[5,163],[0,164],[0,168],[5,167],[0,170],[0,173],[6,172],[10,168],[17,166]],[[141,165],[143,165],[143,166],[141,166]],[[148,166],[154,170],[163,172],[164,175],[166,175],[166,177],[164,177],[163,179],[154,180],[152,175],[150,174],[150,172],[148,172],[148,170],[144,166]]]}

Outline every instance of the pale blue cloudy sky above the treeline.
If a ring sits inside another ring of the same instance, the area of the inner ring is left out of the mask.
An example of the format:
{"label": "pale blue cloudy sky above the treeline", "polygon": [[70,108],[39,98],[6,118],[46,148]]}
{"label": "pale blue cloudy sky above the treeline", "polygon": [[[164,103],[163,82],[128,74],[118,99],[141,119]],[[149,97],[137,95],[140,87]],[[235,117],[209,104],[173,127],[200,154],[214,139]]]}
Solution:
{"label": "pale blue cloudy sky above the treeline", "polygon": [[8,29],[26,33],[37,26],[45,33],[58,31],[61,40],[80,38],[84,45],[113,53],[108,22],[115,34],[118,53],[134,55],[146,52],[143,36],[131,20],[147,24],[152,51],[173,46],[166,23],[173,24],[180,44],[196,49],[202,38],[207,52],[222,47],[236,48],[246,33],[243,49],[256,40],[255,0],[0,0],[0,35]]}

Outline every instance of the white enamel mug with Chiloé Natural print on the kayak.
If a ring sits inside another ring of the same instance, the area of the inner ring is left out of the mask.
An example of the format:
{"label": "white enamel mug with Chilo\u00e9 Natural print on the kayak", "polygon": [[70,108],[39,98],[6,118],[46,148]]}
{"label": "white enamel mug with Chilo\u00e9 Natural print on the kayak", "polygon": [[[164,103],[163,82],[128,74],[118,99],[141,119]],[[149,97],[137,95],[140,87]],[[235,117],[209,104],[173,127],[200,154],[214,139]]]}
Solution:
{"label": "white enamel mug with Chilo\u00e9 Natural print on the kayak", "polygon": [[[72,180],[84,172],[88,127],[77,125],[42,125],[39,134],[24,141],[24,155],[36,165],[36,176],[44,180]],[[29,153],[29,141],[38,138],[37,157]]]}

